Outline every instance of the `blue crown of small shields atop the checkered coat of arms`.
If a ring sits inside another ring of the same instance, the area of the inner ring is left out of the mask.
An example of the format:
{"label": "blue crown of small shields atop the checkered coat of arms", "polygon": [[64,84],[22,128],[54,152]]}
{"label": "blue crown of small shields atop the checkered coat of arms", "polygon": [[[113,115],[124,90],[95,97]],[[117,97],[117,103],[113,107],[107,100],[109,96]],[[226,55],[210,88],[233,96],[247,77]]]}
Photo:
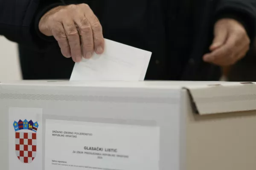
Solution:
{"label": "blue crown of small shields atop the checkered coat of arms", "polygon": [[26,119],[24,121],[19,120],[19,122],[14,121],[13,127],[15,132],[19,130],[32,130],[36,133],[38,130],[38,122],[34,123],[32,120],[28,122]]}

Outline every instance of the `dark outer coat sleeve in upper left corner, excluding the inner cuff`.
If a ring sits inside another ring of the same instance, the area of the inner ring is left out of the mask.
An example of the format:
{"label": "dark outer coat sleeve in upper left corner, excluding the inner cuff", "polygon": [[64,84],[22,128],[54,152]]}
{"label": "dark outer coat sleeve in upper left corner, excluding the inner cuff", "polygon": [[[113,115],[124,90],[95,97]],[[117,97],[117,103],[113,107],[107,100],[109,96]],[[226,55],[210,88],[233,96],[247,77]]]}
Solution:
{"label": "dark outer coat sleeve in upper left corner, excluding the inner cuff", "polygon": [[0,0],[0,35],[19,44],[37,46],[31,24],[39,0]]}

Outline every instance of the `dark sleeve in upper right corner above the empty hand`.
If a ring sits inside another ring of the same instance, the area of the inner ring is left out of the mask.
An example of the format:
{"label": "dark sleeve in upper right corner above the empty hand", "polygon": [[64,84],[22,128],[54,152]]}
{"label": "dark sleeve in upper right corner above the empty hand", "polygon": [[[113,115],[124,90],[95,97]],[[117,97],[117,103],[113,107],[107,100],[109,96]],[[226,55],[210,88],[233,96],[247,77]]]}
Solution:
{"label": "dark sleeve in upper right corner above the empty hand", "polygon": [[256,36],[256,0],[219,0],[216,20],[220,18],[233,18],[243,24],[250,40]]}

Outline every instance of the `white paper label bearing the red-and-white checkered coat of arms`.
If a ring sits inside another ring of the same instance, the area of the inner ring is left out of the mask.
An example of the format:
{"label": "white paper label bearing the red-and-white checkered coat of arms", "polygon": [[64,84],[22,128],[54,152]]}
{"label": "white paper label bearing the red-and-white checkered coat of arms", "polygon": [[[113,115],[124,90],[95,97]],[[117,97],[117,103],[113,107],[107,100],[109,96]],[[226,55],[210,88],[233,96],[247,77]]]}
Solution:
{"label": "white paper label bearing the red-and-white checkered coat of arms", "polygon": [[42,109],[9,108],[9,170],[42,170]]}

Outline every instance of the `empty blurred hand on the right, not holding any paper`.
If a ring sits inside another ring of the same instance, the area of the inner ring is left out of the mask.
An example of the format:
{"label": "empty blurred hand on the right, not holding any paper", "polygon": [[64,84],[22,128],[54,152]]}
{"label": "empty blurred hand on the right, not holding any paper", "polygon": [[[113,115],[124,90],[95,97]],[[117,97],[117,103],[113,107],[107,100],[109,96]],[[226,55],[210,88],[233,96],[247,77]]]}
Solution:
{"label": "empty blurred hand on the right, not holding any paper", "polygon": [[203,59],[219,66],[233,65],[249,50],[250,39],[246,30],[236,20],[221,19],[215,23],[215,38],[210,46],[211,53]]}

